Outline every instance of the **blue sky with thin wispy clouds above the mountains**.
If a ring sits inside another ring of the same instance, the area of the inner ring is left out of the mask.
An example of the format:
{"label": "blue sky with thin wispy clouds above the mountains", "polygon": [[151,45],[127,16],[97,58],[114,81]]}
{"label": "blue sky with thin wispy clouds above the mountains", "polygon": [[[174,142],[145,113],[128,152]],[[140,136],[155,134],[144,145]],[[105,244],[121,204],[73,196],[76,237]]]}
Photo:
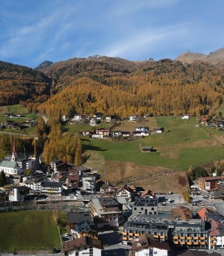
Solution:
{"label": "blue sky with thin wispy clouds above the mountains", "polygon": [[1,0],[0,60],[208,54],[224,47],[223,11],[223,0]]}

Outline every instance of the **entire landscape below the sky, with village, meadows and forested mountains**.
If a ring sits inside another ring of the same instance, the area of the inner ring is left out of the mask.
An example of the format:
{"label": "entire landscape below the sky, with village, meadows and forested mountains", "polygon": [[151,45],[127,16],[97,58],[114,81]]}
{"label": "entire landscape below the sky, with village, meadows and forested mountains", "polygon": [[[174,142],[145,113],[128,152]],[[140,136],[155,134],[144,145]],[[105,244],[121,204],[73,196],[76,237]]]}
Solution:
{"label": "entire landscape below the sky, with village, meadows and forested mountains", "polygon": [[0,61],[0,255],[221,255],[223,56]]}

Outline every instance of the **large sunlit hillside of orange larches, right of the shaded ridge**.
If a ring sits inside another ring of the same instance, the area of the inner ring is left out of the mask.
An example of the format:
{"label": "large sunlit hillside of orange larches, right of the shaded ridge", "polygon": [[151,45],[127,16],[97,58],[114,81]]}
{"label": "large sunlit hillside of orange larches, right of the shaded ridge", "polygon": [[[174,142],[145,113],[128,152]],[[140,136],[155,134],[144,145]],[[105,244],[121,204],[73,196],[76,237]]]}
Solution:
{"label": "large sunlit hillside of orange larches, right of the shaded ridge", "polygon": [[168,59],[115,60],[77,59],[52,64],[45,72],[57,81],[61,91],[39,106],[40,113],[198,116],[215,113],[223,100],[224,72],[212,65],[200,61],[184,65]]}

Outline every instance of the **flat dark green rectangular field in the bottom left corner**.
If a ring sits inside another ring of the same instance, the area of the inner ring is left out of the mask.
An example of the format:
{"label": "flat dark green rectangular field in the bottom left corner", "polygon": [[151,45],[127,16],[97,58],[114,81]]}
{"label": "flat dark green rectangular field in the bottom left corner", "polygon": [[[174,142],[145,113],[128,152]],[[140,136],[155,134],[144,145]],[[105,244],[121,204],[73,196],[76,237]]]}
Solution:
{"label": "flat dark green rectangular field in the bottom left corner", "polygon": [[0,213],[0,250],[61,247],[52,212],[20,211]]}

